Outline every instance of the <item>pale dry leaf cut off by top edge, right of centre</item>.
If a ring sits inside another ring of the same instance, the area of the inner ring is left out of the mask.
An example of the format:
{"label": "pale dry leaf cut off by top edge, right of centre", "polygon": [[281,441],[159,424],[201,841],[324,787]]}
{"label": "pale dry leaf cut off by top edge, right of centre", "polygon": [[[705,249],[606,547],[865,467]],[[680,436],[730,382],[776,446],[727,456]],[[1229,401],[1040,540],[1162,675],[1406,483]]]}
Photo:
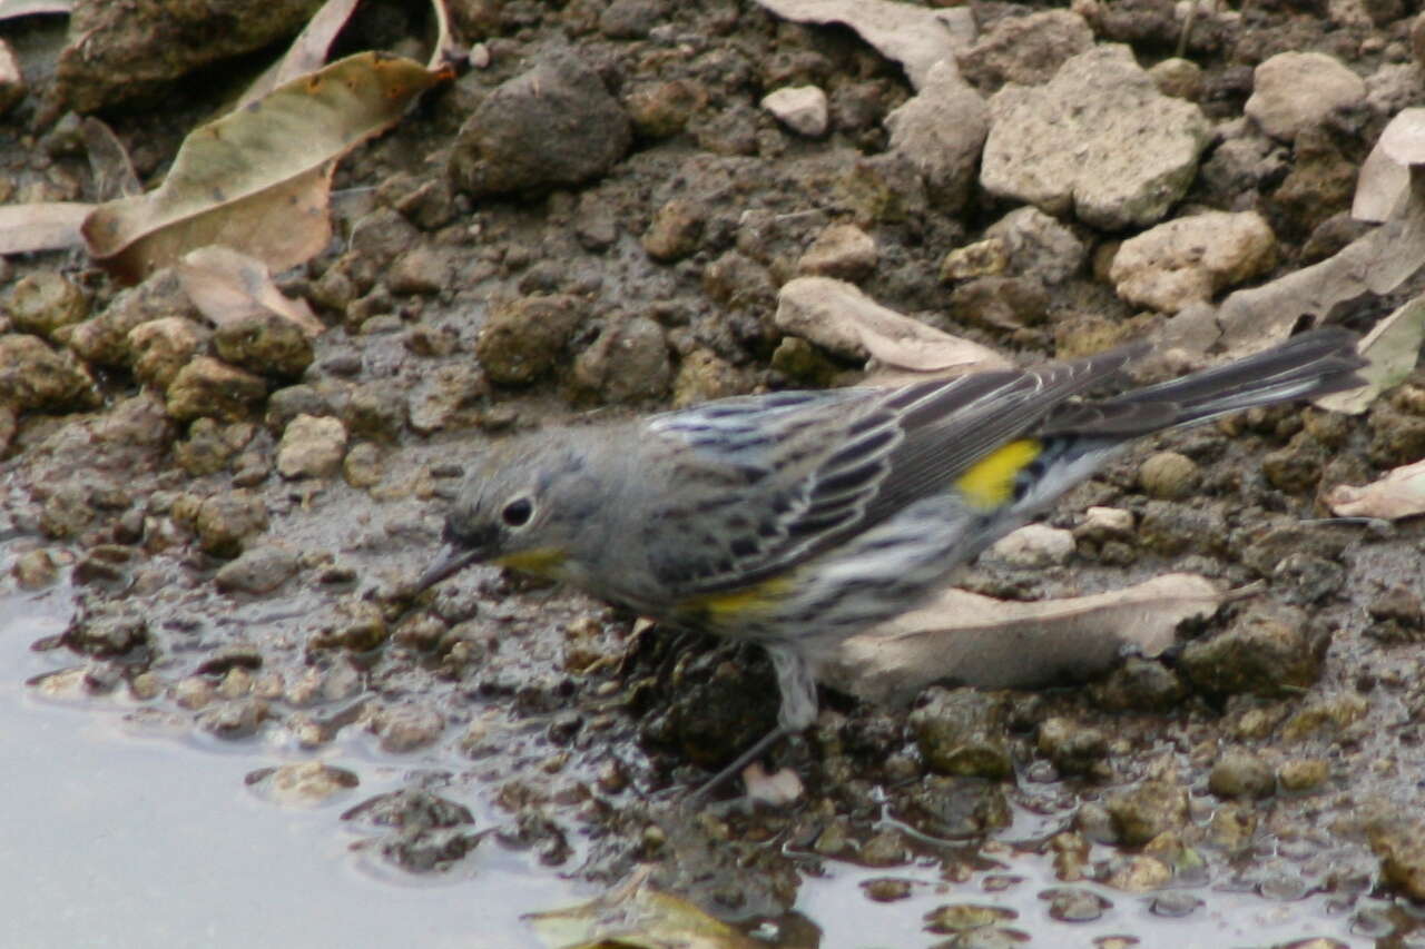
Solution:
{"label": "pale dry leaf cut off by top edge, right of centre", "polygon": [[886,58],[905,67],[916,88],[936,63],[955,66],[955,54],[975,43],[975,14],[968,6],[929,10],[893,0],[757,0],[795,23],[842,23]]}

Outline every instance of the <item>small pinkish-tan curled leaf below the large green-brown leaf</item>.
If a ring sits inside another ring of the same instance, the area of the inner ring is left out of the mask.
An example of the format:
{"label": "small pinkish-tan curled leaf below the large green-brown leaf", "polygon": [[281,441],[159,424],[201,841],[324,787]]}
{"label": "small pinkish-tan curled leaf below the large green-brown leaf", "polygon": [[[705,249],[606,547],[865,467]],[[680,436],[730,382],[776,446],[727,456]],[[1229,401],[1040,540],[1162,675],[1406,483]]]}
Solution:
{"label": "small pinkish-tan curled leaf below the large green-brown leaf", "polygon": [[314,339],[326,331],[305,299],[282,295],[262,261],[232,248],[198,248],[184,255],[174,269],[184,292],[214,326],[265,309],[292,321]]}

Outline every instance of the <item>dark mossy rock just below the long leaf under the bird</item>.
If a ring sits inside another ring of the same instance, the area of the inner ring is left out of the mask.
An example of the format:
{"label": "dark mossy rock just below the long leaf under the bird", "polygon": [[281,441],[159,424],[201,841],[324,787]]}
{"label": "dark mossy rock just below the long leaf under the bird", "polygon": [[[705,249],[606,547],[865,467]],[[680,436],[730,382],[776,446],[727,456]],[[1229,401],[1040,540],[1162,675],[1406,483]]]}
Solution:
{"label": "dark mossy rock just below the long leaf under the bird", "polygon": [[1005,741],[1007,710],[996,695],[973,688],[932,687],[908,724],[925,764],[942,775],[1002,781],[1013,772]]}

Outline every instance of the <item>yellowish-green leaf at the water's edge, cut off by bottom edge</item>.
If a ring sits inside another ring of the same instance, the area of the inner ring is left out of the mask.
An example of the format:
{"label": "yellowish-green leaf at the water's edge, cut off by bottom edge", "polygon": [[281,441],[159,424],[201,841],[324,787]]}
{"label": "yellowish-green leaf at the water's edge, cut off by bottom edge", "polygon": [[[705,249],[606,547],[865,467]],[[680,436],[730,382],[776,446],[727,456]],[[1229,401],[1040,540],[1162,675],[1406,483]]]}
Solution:
{"label": "yellowish-green leaf at the water's edge, cut off by bottom edge", "polygon": [[546,946],[557,949],[757,949],[764,943],[648,885],[643,868],[587,903],[527,913]]}

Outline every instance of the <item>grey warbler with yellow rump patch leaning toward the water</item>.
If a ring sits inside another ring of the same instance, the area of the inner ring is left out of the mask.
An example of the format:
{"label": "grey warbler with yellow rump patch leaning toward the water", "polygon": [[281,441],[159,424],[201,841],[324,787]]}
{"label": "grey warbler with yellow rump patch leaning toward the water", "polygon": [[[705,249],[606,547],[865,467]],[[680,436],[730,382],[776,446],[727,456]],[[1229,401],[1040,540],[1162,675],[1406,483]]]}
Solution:
{"label": "grey warbler with yellow rump patch leaning toward the water", "polygon": [[705,792],[812,724],[817,663],[842,640],[921,604],[1134,439],[1362,385],[1355,335],[1321,328],[1170,382],[1082,398],[1146,348],[513,436],[462,483],[418,590],[490,563],[765,647],[778,725]]}

